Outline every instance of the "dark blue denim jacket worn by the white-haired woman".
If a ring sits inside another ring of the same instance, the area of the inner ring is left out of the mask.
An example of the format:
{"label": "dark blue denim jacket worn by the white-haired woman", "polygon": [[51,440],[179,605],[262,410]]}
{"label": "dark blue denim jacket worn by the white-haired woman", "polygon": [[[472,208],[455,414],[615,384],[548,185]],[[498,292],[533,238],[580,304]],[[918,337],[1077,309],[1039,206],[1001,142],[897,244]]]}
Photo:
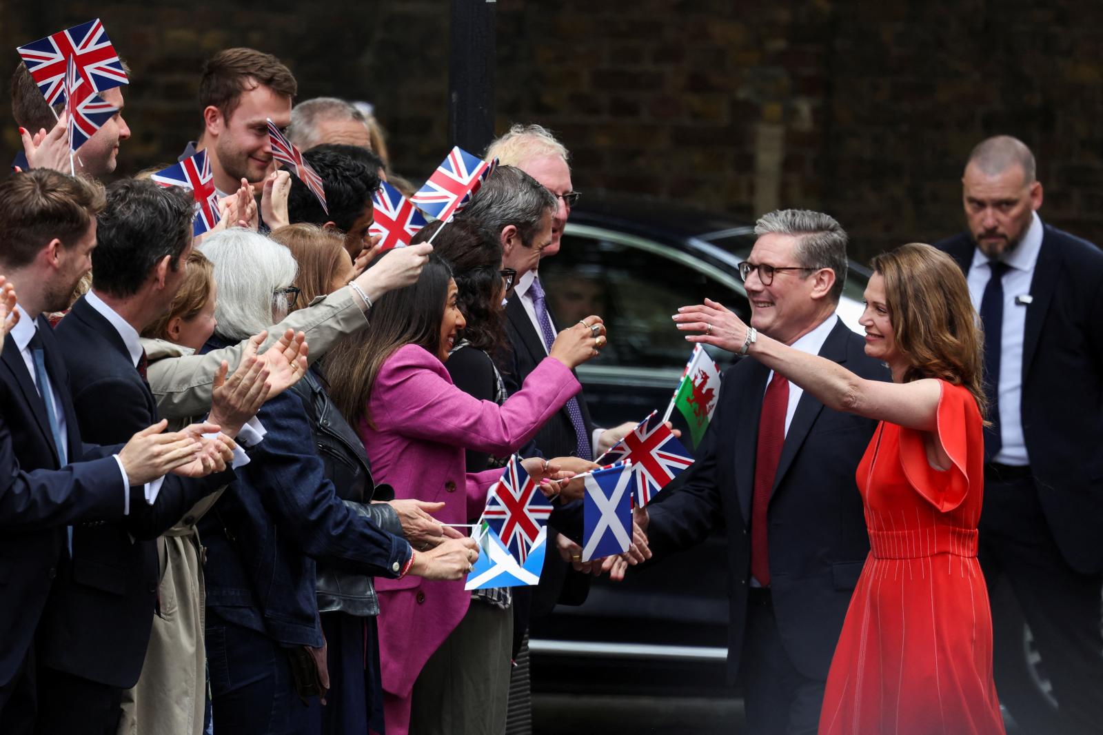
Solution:
{"label": "dark blue denim jacket worn by the white-haired woman", "polygon": [[[212,340],[204,351],[218,347]],[[207,545],[206,603],[223,620],[281,645],[320,647],[315,561],[395,578],[410,545],[342,502],[325,477],[298,394],[269,400],[257,417],[265,440],[200,521]]]}

